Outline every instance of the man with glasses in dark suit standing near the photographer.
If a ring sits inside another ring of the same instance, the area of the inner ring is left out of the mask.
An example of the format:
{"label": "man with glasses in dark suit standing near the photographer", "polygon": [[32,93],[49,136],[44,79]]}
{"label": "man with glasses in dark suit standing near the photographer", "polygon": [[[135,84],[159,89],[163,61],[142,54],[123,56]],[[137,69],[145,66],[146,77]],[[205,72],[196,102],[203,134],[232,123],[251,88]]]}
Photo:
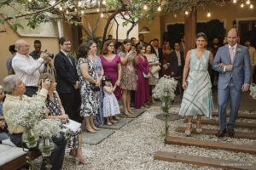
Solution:
{"label": "man with glasses in dark suit standing near the photographer", "polygon": [[68,54],[71,50],[71,42],[66,37],[59,40],[61,51],[55,56],[55,70],[57,73],[57,92],[61,103],[69,118],[74,118],[75,92],[79,88],[79,77],[74,59]]}

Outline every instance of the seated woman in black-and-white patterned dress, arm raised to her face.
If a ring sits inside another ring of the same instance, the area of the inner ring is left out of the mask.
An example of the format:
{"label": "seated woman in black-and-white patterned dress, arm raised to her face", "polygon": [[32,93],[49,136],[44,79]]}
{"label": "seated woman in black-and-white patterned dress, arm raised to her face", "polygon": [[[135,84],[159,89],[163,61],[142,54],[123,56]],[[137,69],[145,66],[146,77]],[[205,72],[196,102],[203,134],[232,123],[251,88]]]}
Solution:
{"label": "seated woman in black-and-white patterned dress, arm raised to her face", "polygon": [[[49,73],[44,73],[40,76],[38,82],[38,90],[42,87],[44,80],[49,79],[51,85],[48,88],[48,96],[46,99],[46,107],[48,111],[45,118],[48,119],[60,119],[62,123],[68,121],[68,116],[61,105],[61,99],[56,91],[57,83],[55,77]],[[79,128],[76,132],[68,129],[67,127],[61,126],[61,133],[66,137],[67,146],[70,148],[70,156],[73,156],[77,163],[85,163],[84,156],[82,154],[82,131]]]}

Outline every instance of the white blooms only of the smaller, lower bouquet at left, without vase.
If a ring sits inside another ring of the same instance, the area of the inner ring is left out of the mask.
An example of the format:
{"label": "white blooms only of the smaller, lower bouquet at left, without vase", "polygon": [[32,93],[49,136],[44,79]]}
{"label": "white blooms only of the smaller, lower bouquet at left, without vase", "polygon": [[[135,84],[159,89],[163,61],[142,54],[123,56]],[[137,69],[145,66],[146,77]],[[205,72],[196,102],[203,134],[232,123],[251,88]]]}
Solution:
{"label": "white blooms only of the smaller, lower bouquet at left, without vase", "polygon": [[49,138],[53,135],[58,136],[61,132],[61,121],[58,119],[43,119],[35,124],[34,130],[44,138]]}

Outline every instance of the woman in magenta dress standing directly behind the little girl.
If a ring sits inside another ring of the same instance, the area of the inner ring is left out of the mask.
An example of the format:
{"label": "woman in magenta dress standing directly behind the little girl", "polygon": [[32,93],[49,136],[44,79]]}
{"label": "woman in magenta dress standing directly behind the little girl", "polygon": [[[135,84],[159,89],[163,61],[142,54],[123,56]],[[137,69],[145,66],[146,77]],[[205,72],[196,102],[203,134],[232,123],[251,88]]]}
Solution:
{"label": "woman in magenta dress standing directly behind the little girl", "polygon": [[[102,48],[102,54],[100,58],[102,59],[102,66],[104,70],[104,76],[108,75],[112,79],[112,85],[116,84],[116,88],[113,92],[116,99],[121,99],[121,92],[120,92],[120,81],[121,81],[121,60],[119,55],[114,54],[114,45],[111,40],[108,40],[104,43]],[[119,119],[118,116],[114,116],[116,120]]]}

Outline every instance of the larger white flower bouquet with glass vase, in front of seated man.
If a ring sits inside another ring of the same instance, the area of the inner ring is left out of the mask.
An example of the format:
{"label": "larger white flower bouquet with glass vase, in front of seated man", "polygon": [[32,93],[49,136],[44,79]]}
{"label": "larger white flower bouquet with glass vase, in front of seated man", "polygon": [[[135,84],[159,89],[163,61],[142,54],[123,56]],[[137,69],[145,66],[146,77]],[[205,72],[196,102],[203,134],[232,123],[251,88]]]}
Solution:
{"label": "larger white flower bouquet with glass vase, in front of seated man", "polygon": [[43,118],[44,101],[40,96],[24,99],[17,97],[16,100],[18,105],[7,111],[7,115],[14,124],[23,127],[22,142],[26,143],[28,148],[34,148],[37,146],[39,136],[33,127]]}

